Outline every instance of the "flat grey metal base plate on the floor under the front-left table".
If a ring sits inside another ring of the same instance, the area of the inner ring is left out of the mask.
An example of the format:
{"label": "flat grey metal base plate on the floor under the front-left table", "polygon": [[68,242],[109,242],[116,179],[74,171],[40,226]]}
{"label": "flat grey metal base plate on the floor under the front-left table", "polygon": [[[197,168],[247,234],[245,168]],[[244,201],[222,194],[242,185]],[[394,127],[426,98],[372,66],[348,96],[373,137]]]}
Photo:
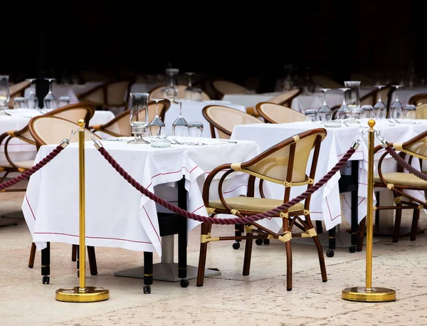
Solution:
{"label": "flat grey metal base plate on the floor under the front-left table", "polygon": [[[144,267],[130,268],[115,272],[116,276],[125,278],[144,278]],[[205,270],[205,277],[221,275],[219,270]],[[187,265],[186,280],[197,278],[197,267]],[[167,282],[179,282],[177,263],[157,263],[153,265],[153,280],[166,280]]]}

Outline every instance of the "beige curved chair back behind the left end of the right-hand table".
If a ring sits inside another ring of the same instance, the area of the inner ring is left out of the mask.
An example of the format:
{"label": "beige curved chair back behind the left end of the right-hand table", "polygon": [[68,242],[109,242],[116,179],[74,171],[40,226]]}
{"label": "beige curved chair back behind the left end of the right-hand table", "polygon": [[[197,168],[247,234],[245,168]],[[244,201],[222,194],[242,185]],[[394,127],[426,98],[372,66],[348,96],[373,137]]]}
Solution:
{"label": "beige curved chair back behind the left end of the right-hand table", "polygon": [[256,110],[265,121],[270,123],[288,123],[305,121],[306,117],[300,112],[270,102],[260,102],[256,105]]}

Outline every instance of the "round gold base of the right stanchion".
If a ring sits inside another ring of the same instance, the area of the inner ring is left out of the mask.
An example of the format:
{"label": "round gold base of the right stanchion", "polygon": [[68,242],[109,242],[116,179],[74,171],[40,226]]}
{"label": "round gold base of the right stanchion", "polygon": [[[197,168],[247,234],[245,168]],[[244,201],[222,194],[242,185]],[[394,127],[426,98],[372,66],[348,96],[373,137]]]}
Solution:
{"label": "round gold base of the right stanchion", "polygon": [[364,287],[346,288],[342,290],[342,298],[361,303],[384,303],[396,300],[396,291],[387,288],[372,288],[370,292],[367,292]]}

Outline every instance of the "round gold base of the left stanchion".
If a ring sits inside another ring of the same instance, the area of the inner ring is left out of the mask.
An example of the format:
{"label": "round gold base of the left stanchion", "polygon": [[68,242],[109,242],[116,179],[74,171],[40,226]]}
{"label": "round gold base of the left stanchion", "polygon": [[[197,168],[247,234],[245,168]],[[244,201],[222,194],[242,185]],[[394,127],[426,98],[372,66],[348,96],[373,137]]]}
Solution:
{"label": "round gold base of the left stanchion", "polygon": [[56,290],[55,298],[58,301],[65,303],[97,303],[110,299],[110,291],[105,288],[95,288],[95,286],[87,286],[85,291],[75,288],[58,289]]}

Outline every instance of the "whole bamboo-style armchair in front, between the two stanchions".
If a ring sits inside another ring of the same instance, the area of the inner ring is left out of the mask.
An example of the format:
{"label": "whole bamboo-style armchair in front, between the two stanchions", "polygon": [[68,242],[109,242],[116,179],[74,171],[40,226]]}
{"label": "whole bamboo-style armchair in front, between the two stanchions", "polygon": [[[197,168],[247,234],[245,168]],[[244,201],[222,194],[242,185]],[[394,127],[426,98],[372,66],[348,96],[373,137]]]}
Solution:
{"label": "whole bamboo-style armchair in front, between the two stanchions", "polygon": [[[216,214],[233,214],[237,217],[251,216],[263,211],[269,211],[290,200],[290,189],[292,186],[307,185],[310,189],[314,183],[317,159],[319,157],[320,143],[326,137],[325,129],[314,129],[302,132],[298,135],[288,138],[279,144],[265,150],[248,162],[222,164],[212,170],[206,177],[203,188],[204,205],[212,219]],[[310,175],[305,174],[310,153],[314,149],[313,159],[310,167]],[[218,188],[211,189],[211,182],[218,173],[225,173],[219,180]],[[233,172],[244,172],[249,174],[247,196],[236,196],[224,198],[222,185],[224,179]],[[259,179],[260,198],[255,198],[255,179]],[[285,195],[283,200],[267,199],[263,192],[263,182],[274,182],[285,186]],[[217,192],[218,191],[218,192]],[[211,194],[214,192],[215,194]],[[218,198],[211,200],[212,197]],[[304,216],[301,219],[300,216]],[[243,263],[243,275],[249,275],[251,267],[251,252],[253,239],[278,239],[285,243],[287,259],[287,284],[286,288],[292,290],[292,251],[290,240],[292,237],[312,237],[315,241],[317,254],[320,261],[320,270],[323,282],[327,281],[325,259],[323,257],[322,246],[315,228],[313,228],[310,219],[310,196],[305,199],[304,204],[296,204],[290,209],[277,214],[277,218],[283,220],[283,233],[275,233],[257,223],[245,226],[246,236],[211,236],[212,224],[203,223],[201,225],[201,245],[199,256],[199,270],[197,274],[197,286],[204,283],[204,270],[206,265],[206,252],[208,243],[211,241],[222,240],[245,240],[245,258]],[[302,233],[292,233],[292,227],[300,228]],[[258,228],[255,229],[255,228]],[[257,233],[254,235],[254,233]]]}

